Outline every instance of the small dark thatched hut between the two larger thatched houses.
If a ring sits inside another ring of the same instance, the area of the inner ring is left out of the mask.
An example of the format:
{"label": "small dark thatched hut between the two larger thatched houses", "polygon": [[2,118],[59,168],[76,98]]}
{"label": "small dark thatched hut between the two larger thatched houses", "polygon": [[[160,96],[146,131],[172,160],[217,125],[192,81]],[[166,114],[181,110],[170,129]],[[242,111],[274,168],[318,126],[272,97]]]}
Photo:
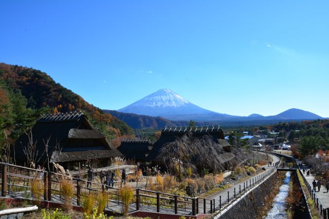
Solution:
{"label": "small dark thatched hut between the two larger thatched houses", "polygon": [[145,162],[152,147],[150,140],[123,140],[117,149],[127,159],[136,162]]}

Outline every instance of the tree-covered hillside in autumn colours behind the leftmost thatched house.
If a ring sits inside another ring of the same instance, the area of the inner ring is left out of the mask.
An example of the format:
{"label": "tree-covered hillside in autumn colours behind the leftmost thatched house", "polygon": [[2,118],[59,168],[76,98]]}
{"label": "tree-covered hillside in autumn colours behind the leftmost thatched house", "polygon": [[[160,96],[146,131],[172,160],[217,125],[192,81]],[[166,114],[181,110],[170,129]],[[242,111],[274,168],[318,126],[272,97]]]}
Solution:
{"label": "tree-covered hillside in autumn colours behind the leftmost thatched house", "polygon": [[[132,133],[115,116],[87,103],[44,72],[0,63],[0,140],[22,133],[42,113],[82,110],[108,138]],[[5,131],[4,131],[5,130]]]}

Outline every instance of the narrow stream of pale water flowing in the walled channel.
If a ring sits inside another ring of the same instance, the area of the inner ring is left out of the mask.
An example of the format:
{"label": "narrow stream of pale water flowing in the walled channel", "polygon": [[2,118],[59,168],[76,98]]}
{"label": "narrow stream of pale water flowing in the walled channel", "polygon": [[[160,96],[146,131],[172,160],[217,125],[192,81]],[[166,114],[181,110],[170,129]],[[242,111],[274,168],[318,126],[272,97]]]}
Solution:
{"label": "narrow stream of pale water flowing in the walled channel", "polygon": [[288,192],[289,192],[289,182],[290,182],[290,172],[287,171],[286,177],[284,178],[284,182],[282,186],[280,186],[280,191],[277,194],[277,196],[274,198],[273,207],[265,217],[266,219],[286,218],[285,204],[286,204],[286,197],[288,196]]}

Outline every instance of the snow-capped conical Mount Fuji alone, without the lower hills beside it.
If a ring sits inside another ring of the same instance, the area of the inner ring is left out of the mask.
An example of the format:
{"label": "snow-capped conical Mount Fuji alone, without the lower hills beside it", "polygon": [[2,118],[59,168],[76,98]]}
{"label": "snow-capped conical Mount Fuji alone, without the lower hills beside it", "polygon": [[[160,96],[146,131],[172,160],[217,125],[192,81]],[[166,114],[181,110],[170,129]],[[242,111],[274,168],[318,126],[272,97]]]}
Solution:
{"label": "snow-capped conical Mount Fuji alone, without the lower hills beside it", "polygon": [[213,112],[196,106],[170,89],[160,89],[118,111],[140,115],[162,116],[174,121],[208,121],[239,117]]}

